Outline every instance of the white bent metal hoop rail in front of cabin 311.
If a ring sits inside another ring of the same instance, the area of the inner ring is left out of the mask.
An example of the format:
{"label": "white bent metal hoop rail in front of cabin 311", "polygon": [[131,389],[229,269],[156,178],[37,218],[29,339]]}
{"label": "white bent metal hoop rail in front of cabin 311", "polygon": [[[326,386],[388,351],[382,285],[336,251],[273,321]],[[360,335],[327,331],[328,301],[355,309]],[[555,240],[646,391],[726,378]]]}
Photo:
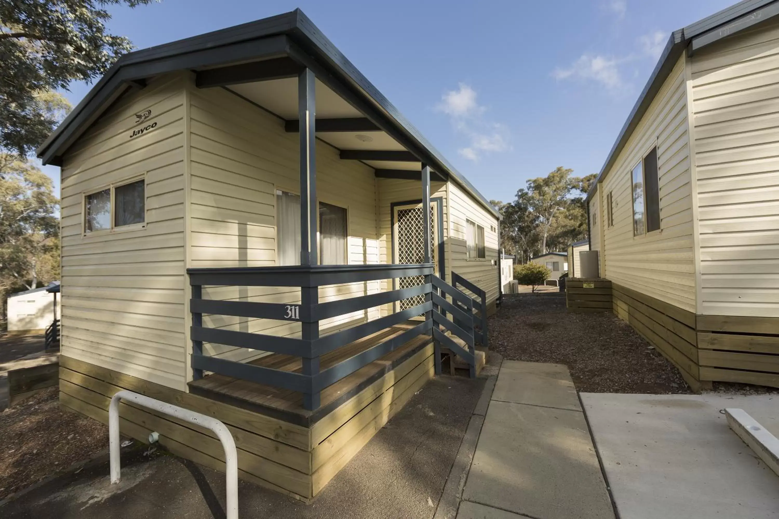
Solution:
{"label": "white bent metal hoop rail in front of cabin 311", "polygon": [[233,435],[224,423],[199,412],[190,411],[178,407],[178,405],[160,402],[154,398],[149,398],[132,391],[118,391],[111,398],[111,405],[108,407],[108,444],[111,457],[111,483],[118,483],[120,479],[119,472],[119,401],[126,400],[143,405],[155,411],[164,412],[166,415],[194,423],[197,426],[205,427],[217,434],[224,447],[224,461],[227,473],[227,519],[238,519],[238,453],[235,451],[235,442]]}

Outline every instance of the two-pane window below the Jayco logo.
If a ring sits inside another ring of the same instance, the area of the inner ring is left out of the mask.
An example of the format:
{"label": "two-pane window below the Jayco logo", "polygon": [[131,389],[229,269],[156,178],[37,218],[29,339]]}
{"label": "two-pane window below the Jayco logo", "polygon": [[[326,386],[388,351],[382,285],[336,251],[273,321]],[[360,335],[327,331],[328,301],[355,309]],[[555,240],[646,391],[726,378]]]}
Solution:
{"label": "two-pane window below the Jayco logo", "polygon": [[144,226],[145,223],[146,180],[143,178],[111,185],[84,196],[85,234],[118,227]]}

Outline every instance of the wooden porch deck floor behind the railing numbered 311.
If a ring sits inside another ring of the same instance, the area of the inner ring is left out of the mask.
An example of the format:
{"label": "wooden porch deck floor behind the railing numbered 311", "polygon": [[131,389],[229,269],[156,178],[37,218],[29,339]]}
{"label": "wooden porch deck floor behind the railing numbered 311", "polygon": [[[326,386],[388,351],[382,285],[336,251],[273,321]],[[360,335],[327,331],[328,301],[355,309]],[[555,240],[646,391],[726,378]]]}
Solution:
{"label": "wooden porch deck floor behind the railing numbered 311", "polygon": [[[358,355],[366,349],[370,349],[372,346],[414,327],[416,324],[418,322],[407,321],[407,323],[386,328],[374,335],[369,335],[343,348],[327,353],[320,359],[320,370],[326,370],[330,366]],[[330,387],[326,387],[321,395],[322,404],[315,411],[303,409],[303,395],[298,391],[257,384],[248,380],[225,377],[219,374],[210,374],[200,380],[190,382],[189,391],[196,395],[242,409],[272,416],[288,423],[310,427],[344,402],[347,402],[349,398],[357,395],[375,380],[383,377],[386,373],[390,373],[396,366],[409,359],[430,341],[431,339],[427,335],[413,338],[381,359],[369,363]],[[253,361],[252,364],[292,372],[300,372],[302,369],[300,357],[280,353],[264,356]]]}

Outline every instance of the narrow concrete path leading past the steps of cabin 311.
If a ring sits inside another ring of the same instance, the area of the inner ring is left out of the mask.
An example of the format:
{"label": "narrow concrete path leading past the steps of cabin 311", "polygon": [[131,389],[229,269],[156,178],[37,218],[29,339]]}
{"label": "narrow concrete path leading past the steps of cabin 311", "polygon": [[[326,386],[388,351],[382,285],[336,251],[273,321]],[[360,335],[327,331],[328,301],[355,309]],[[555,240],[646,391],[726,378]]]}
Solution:
{"label": "narrow concrete path leading past the steps of cabin 311", "polygon": [[503,361],[456,517],[615,517],[566,366]]}

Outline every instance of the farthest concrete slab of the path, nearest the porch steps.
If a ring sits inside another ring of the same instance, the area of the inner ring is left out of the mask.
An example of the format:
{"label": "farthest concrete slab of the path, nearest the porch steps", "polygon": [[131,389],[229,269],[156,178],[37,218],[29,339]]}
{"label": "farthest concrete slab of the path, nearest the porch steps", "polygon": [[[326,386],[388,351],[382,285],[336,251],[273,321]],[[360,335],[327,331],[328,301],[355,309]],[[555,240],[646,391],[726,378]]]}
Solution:
{"label": "farthest concrete slab of the path, nearest the porch steps", "polygon": [[562,364],[504,360],[492,400],[581,410],[576,387]]}

